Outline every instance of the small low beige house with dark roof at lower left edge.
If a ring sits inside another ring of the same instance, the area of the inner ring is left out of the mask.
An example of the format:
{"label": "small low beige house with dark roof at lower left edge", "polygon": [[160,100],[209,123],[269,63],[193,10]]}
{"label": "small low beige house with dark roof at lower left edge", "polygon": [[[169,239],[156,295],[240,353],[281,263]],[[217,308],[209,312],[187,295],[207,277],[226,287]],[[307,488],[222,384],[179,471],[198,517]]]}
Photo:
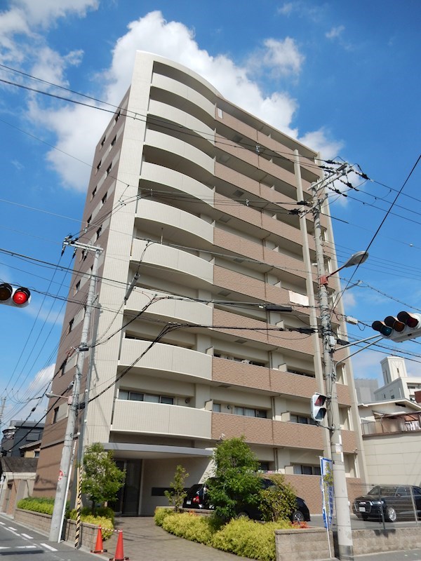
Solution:
{"label": "small low beige house with dark roof at lower left edge", "polygon": [[38,459],[2,457],[0,462],[0,512],[13,514],[18,501],[32,494]]}

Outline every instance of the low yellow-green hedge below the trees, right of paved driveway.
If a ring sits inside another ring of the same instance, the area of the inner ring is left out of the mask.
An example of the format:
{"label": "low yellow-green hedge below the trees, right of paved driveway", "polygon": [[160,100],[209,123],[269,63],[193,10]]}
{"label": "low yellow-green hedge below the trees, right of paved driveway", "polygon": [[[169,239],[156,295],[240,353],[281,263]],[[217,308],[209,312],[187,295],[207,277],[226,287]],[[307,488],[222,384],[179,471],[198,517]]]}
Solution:
{"label": "low yellow-green hedge below the trees, right of paved driveway", "polygon": [[262,524],[238,518],[217,529],[210,517],[193,512],[179,514],[168,508],[156,509],[155,523],[175,536],[259,561],[276,560],[276,529],[298,527],[289,520]]}

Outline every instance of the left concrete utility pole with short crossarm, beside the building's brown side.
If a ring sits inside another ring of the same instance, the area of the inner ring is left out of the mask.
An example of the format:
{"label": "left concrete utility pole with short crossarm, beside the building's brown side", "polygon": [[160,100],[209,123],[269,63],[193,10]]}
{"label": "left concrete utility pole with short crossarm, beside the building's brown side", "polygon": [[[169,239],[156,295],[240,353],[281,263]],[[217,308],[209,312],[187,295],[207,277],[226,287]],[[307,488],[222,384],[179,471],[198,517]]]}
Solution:
{"label": "left concrete utility pole with short crossarm, beside the building's brown side", "polygon": [[[77,361],[76,361],[76,372],[74,374],[74,384],[72,391],[72,403],[69,405],[69,414],[67,417],[67,427],[65,433],[65,440],[63,442],[62,457],[60,461],[60,471],[57,482],[57,489],[55,492],[55,501],[53,515],[51,517],[51,529],[50,529],[50,541],[60,542],[61,539],[61,529],[62,520],[65,513],[66,505],[66,495],[68,489],[68,480],[70,476],[70,471],[72,470],[72,443],[75,438],[75,427],[76,419],[79,413],[79,392],[81,386],[81,377],[83,372],[83,360],[86,351],[88,351],[88,334],[89,334],[89,324],[91,322],[91,314],[93,308],[93,300],[95,297],[95,280],[98,275],[98,262],[102,248],[98,248],[95,245],[87,245],[84,243],[79,243],[76,240],[71,240],[70,238],[65,238],[63,242],[63,249],[65,245],[72,245],[75,249],[82,249],[85,251],[95,252],[93,259],[93,268],[91,273],[91,280],[89,282],[88,298],[86,300],[86,312],[83,318],[81,343],[77,349]],[[83,446],[83,442],[79,441],[79,447]]]}

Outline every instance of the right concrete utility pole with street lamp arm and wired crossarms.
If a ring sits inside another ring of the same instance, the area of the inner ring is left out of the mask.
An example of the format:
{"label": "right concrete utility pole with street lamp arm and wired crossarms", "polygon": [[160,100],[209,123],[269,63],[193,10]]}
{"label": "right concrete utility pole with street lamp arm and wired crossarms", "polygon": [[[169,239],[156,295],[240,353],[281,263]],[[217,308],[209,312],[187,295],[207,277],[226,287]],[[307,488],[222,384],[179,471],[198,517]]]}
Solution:
{"label": "right concrete utility pole with street lamp arm and wired crossarms", "polygon": [[[319,276],[319,308],[321,320],[321,336],[323,342],[323,367],[326,383],[326,396],[328,398],[328,428],[330,432],[330,454],[333,464],[333,489],[335,498],[336,525],[338,529],[338,555],[341,560],[354,559],[354,546],[352,542],[351,517],[349,514],[347,478],[345,475],[344,454],[342,451],[342,436],[340,433],[340,416],[338,405],[338,393],[336,389],[336,370],[333,365],[333,351],[335,348],[335,337],[332,334],[330,323],[330,309],[328,303],[328,277],[326,275],[323,254],[322,229],[321,229],[321,207],[326,200],[325,188],[331,182],[345,175],[349,170],[349,164],[341,165],[335,172],[326,179],[312,185],[314,197],[314,238],[316,243],[316,264]],[[323,196],[320,194],[323,193]],[[359,264],[366,260],[368,254],[359,252],[348,259],[345,266]],[[343,267],[340,267],[342,269]],[[334,271],[334,273],[337,273]]]}

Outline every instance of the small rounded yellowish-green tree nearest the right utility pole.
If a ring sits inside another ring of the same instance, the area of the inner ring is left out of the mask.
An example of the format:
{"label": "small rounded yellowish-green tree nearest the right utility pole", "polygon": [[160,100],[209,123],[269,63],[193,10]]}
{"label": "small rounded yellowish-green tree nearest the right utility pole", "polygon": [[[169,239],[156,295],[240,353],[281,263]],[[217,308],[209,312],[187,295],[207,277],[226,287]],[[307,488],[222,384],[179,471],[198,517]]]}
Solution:
{"label": "small rounded yellowish-green tree nearest the right utility pole", "polygon": [[297,496],[293,487],[281,473],[269,476],[276,485],[260,491],[259,509],[265,522],[287,519],[296,509]]}

